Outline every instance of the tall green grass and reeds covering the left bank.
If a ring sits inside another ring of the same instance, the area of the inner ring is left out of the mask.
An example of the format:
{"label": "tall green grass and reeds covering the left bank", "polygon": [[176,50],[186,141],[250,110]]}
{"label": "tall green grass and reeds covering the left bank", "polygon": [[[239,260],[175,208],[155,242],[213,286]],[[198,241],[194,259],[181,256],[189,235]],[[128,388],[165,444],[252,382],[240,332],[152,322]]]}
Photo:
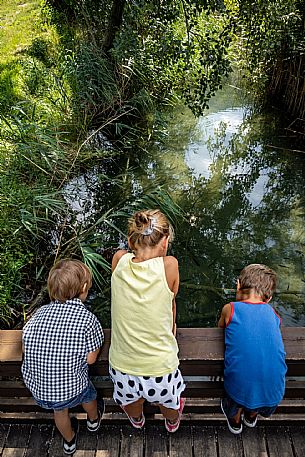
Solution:
{"label": "tall green grass and reeds covering the left bank", "polygon": [[[54,261],[83,259],[95,286],[107,289],[104,253],[124,240],[130,214],[157,206],[174,220],[180,210],[160,189],[135,193],[132,179],[105,165],[145,145],[155,110],[132,84],[131,66],[74,25],[43,22],[38,1],[2,2],[0,15],[0,327],[8,327],[33,311]],[[94,211],[80,217],[67,187],[95,168]]]}

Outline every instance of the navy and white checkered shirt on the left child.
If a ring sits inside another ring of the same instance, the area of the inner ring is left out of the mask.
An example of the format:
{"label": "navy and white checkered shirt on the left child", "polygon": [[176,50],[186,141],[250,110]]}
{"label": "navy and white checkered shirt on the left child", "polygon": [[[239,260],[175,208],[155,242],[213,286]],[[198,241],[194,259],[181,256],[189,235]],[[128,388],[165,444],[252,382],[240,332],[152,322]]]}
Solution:
{"label": "navy and white checkered shirt on the left child", "polygon": [[42,306],[23,329],[26,386],[39,400],[76,397],[89,383],[87,355],[103,341],[101,324],[78,298]]}

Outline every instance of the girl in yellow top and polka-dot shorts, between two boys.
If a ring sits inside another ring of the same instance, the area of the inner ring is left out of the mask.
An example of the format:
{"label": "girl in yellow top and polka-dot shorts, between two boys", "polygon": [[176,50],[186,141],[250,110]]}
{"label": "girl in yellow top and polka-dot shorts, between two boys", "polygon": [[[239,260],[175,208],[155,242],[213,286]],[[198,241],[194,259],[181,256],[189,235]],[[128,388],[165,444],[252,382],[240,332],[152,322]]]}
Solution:
{"label": "girl in yellow top and polka-dot shorts, between two boys", "polygon": [[159,210],[137,212],[128,223],[132,253],[116,252],[111,278],[109,372],[113,398],[135,428],[145,423],[143,403],[158,403],[175,432],[185,399],[178,369],[175,297],[178,261],[166,256],[173,229]]}

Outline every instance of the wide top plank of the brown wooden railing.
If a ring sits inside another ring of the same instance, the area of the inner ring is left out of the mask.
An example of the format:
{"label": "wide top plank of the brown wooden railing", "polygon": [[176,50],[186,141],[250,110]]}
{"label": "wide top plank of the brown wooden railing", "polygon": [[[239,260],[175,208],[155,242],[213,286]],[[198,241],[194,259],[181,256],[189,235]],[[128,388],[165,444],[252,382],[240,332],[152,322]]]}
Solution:
{"label": "wide top plank of the brown wooden railing", "polygon": [[[305,328],[284,327],[282,329],[289,375],[305,375]],[[90,368],[92,374],[107,375],[110,330],[105,329],[105,342],[99,360]],[[0,371],[6,376],[19,370],[22,359],[21,330],[0,331]],[[224,338],[218,328],[180,328],[177,330],[179,356],[184,375],[221,374],[223,370]],[[11,365],[3,364],[3,361]],[[15,365],[12,363],[15,361]],[[17,363],[17,365],[16,365]],[[18,365],[19,363],[19,365]],[[6,371],[9,367],[11,372]]]}

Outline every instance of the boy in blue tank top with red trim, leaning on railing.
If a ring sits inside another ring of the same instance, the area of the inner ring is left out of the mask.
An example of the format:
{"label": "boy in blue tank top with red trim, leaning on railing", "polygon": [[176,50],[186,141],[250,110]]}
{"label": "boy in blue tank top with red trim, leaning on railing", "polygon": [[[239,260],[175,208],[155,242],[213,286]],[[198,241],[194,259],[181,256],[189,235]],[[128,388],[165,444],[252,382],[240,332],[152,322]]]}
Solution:
{"label": "boy in blue tank top with red trim, leaning on railing", "polygon": [[237,301],[223,307],[218,322],[225,329],[221,409],[234,434],[242,432],[242,423],[255,427],[258,414],[269,417],[284,396],[281,318],[269,305],[275,287],[271,268],[248,265],[237,280]]}

